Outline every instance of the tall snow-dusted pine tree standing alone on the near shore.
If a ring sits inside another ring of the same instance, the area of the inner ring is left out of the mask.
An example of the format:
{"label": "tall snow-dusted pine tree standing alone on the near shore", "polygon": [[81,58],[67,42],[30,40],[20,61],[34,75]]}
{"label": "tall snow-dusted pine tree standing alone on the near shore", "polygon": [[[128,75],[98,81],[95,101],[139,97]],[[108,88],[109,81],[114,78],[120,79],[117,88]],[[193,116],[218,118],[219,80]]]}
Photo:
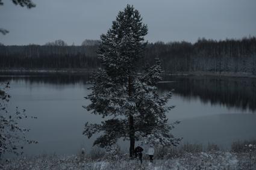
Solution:
{"label": "tall snow-dusted pine tree standing alone on the near shore", "polygon": [[83,134],[90,138],[103,132],[94,142],[100,147],[109,147],[119,138],[130,140],[130,157],[134,156],[135,141],[177,145],[181,140],[170,133],[175,123],[169,124],[166,118],[172,107],[165,105],[172,93],[157,94],[160,61],[143,72],[138,71],[147,33],[147,26],[133,6],[127,5],[119,12],[107,34],[101,35],[98,55],[102,68],[92,76],[92,93],[86,97],[92,103],[84,106],[93,114],[109,119],[101,124],[87,122]]}

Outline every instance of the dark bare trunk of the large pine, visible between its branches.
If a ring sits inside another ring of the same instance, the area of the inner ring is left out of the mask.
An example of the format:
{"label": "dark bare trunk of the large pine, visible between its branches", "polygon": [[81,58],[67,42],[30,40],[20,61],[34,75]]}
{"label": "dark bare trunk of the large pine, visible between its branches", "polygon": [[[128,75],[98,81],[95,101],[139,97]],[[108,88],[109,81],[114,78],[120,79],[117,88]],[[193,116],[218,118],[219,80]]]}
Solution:
{"label": "dark bare trunk of the large pine, visible between its branches", "polygon": [[[131,96],[131,76],[129,76],[129,82],[128,82],[128,94]],[[135,147],[135,133],[134,133],[134,121],[133,121],[133,115],[130,114],[129,116],[129,123],[130,123],[130,158],[133,159],[134,157],[134,147]]]}

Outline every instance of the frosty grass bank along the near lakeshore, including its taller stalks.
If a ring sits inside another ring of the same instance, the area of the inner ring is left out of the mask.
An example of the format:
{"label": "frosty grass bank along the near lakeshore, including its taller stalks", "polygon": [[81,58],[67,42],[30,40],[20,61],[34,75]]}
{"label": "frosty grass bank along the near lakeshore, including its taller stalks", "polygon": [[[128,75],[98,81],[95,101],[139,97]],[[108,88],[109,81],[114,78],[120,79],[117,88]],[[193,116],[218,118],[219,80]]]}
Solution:
{"label": "frosty grass bank along the near lakeshore, including its taller stalks", "polygon": [[89,153],[58,156],[43,154],[2,160],[0,169],[256,169],[256,141],[234,142],[231,151],[215,144],[183,144],[180,147],[155,148],[154,162],[143,154],[143,163],[130,160],[126,151],[116,146],[109,151],[93,147]]}

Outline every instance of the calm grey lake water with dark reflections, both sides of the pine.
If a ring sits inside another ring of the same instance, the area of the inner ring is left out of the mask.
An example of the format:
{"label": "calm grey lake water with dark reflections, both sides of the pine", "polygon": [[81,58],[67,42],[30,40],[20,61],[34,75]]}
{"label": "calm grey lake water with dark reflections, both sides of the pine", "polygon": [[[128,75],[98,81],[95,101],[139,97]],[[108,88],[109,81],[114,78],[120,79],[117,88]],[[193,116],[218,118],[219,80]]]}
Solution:
{"label": "calm grey lake water with dark reflections, both sides of the pine", "polygon": [[[82,107],[89,104],[84,99],[90,93],[88,74],[0,76],[0,82],[6,81],[11,87],[8,109],[18,106],[38,117],[20,122],[31,129],[28,139],[39,142],[26,145],[25,154],[76,154],[92,148],[95,137],[83,136],[83,127],[102,118]],[[168,103],[175,108],[167,117],[170,123],[181,121],[172,133],[183,142],[228,149],[233,141],[256,139],[256,79],[166,75],[158,88],[160,94],[175,90]]]}

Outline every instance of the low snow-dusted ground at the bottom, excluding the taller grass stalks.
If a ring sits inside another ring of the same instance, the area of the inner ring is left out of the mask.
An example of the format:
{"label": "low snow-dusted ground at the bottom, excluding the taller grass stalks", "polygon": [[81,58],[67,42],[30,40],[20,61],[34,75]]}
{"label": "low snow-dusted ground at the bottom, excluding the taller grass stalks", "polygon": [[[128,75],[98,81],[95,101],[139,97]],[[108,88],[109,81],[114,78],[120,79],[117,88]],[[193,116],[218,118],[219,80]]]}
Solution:
{"label": "low snow-dusted ground at the bottom, excluding the taller grass stalks", "polygon": [[[251,162],[250,162],[251,160]],[[3,162],[2,162],[3,163]],[[184,153],[177,157],[155,159],[149,163],[148,157],[130,160],[128,154],[116,157],[105,155],[101,159],[80,156],[42,155],[22,157],[4,162],[0,169],[256,169],[256,155],[231,153],[226,151]]]}

